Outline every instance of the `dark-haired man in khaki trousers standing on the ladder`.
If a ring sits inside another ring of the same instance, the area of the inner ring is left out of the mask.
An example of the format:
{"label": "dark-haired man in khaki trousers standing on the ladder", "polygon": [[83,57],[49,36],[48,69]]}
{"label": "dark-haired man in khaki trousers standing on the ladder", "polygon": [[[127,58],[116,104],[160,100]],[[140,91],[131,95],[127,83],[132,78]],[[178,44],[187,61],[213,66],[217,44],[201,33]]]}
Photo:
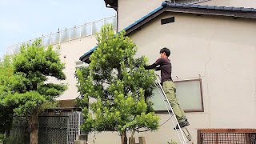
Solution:
{"label": "dark-haired man in khaki trousers standing on the ladder", "polygon": [[[160,50],[160,57],[154,64],[150,66],[144,66],[146,70],[155,69],[155,70],[161,70],[161,84],[162,88],[164,90],[164,93],[166,94],[166,97],[168,98],[170,102],[170,106],[172,107],[174,114],[178,120],[178,123],[180,127],[189,126],[190,123],[188,122],[186,115],[184,113],[184,110],[182,110],[181,106],[179,106],[178,100],[176,98],[176,87],[174,85],[174,82],[171,78],[171,70],[172,66],[170,63],[170,60],[168,57],[170,56],[170,50],[165,48],[162,48]],[[158,67],[157,67],[158,66]],[[174,130],[178,130],[179,126],[175,126]]]}

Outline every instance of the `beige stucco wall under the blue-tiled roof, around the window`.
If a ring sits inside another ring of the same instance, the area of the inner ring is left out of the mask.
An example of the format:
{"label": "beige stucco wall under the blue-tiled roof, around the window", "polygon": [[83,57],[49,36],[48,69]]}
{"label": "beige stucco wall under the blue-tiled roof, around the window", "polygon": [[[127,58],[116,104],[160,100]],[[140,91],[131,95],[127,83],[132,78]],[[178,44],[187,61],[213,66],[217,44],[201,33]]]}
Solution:
{"label": "beige stucco wall under the blue-tiled roof, around the window", "polygon": [[[160,19],[175,17],[161,25]],[[171,50],[174,80],[202,78],[205,112],[186,114],[196,137],[198,128],[256,128],[256,25],[253,19],[166,14],[142,26],[130,38],[138,54],[153,63],[159,50]],[[200,74],[200,76],[199,76]],[[178,77],[178,79],[176,78]],[[189,97],[189,95],[188,95]],[[161,123],[168,118],[159,114]],[[176,139],[171,122],[157,132],[139,133],[147,144]],[[90,142],[94,139],[90,135]],[[120,143],[118,134],[96,134],[96,143]]]}

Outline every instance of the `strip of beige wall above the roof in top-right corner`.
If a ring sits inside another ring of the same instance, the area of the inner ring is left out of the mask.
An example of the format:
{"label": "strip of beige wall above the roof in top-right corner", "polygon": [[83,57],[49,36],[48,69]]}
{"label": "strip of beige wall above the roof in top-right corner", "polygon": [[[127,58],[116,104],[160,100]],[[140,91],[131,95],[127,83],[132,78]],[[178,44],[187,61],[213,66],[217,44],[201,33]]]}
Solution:
{"label": "strip of beige wall above the roof in top-right corner", "polygon": [[234,6],[234,7],[256,7],[255,0],[211,0],[202,2],[200,5],[213,5],[213,6]]}

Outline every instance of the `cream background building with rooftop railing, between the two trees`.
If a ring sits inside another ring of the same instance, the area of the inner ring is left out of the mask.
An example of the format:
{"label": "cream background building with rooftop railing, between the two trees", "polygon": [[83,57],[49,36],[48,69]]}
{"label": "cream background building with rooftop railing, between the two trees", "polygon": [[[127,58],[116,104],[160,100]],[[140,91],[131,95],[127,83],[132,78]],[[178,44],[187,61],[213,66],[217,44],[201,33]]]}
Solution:
{"label": "cream background building with rooftop railing, between the two trees", "polygon": [[[58,30],[56,33],[51,33],[42,36],[42,46],[52,45],[54,47],[60,47],[60,54],[62,62],[65,62],[66,80],[60,81],[62,83],[68,84],[68,90],[62,94],[59,100],[68,100],[78,97],[76,78],[74,78],[75,70],[79,66],[85,66],[86,64],[79,61],[79,57],[85,51],[91,49],[91,47],[97,44],[95,34],[100,31],[101,27],[106,24],[111,23],[116,29],[116,16],[110,18],[103,18],[98,21],[88,22],[80,26],[74,26],[66,30]],[[14,54],[18,52],[19,46],[23,43],[32,43],[34,39],[27,42],[21,42],[9,46],[7,48],[8,54]],[[54,81],[54,79],[50,79]]]}

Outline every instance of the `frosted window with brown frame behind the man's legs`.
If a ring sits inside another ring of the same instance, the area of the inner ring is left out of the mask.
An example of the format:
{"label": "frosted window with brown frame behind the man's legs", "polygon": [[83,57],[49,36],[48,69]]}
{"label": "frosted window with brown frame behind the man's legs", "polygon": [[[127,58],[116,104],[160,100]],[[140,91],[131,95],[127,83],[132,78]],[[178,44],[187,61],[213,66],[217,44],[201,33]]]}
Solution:
{"label": "frosted window with brown frame behind the man's legs", "polygon": [[[176,86],[176,95],[178,102],[185,112],[203,112],[203,99],[202,99],[202,80],[192,79],[186,81],[174,82]],[[160,90],[161,92],[161,90]],[[156,113],[167,113],[166,105],[159,93],[155,88],[153,91],[152,102],[154,102],[154,110]],[[169,106],[168,106],[169,107]]]}

